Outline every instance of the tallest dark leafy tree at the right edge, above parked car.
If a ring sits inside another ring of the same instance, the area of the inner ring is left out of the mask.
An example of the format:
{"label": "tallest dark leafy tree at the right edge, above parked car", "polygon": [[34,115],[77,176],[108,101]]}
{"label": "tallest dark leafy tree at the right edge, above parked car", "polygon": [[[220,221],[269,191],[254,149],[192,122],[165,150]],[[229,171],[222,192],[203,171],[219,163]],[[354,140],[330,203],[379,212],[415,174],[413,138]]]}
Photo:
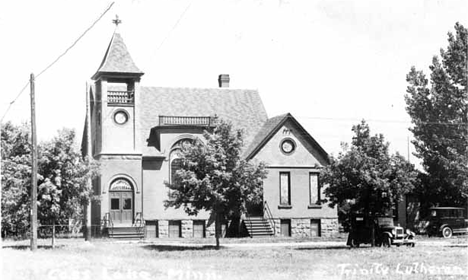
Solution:
{"label": "tallest dark leafy tree at the right edge, above parked car", "polygon": [[426,172],[417,190],[421,202],[463,205],[468,192],[468,30],[455,24],[448,47],[434,56],[429,80],[413,66],[405,101],[416,156]]}

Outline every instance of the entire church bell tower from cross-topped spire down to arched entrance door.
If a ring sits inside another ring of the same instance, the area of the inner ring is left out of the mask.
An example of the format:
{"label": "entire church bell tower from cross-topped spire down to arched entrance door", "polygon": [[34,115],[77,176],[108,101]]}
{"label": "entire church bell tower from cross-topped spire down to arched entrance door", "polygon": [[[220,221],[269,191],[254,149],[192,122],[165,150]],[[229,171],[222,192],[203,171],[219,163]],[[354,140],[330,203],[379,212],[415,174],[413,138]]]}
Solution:
{"label": "entire church bell tower from cross-topped spire down to arched entrance door", "polygon": [[[118,17],[113,21],[118,26]],[[140,78],[117,28],[93,75],[91,135],[93,157],[101,164],[93,183],[100,202],[92,202],[94,223],[112,219],[132,225],[142,215],[142,144],[140,137]]]}

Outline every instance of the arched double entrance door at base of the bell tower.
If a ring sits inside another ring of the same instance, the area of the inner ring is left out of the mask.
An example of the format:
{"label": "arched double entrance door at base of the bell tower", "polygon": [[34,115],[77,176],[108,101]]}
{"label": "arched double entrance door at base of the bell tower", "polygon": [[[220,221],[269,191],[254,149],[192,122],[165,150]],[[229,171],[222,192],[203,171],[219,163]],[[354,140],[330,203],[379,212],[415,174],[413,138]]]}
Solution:
{"label": "arched double entrance door at base of the bell tower", "polygon": [[133,223],[133,188],[127,180],[112,183],[109,191],[110,216],[114,224]]}

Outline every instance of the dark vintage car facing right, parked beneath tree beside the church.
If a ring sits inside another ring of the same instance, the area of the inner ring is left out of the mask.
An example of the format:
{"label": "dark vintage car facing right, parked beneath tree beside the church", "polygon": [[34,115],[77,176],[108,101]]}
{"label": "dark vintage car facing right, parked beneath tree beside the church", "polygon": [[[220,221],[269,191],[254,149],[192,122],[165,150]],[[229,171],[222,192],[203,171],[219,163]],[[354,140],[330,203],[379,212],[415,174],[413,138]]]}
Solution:
{"label": "dark vintage car facing right, parked beneath tree beside the church", "polygon": [[376,246],[407,245],[414,247],[415,234],[393,224],[392,217],[365,217],[356,215],[351,218],[351,230],[347,245],[359,247],[360,244],[372,244],[372,230]]}

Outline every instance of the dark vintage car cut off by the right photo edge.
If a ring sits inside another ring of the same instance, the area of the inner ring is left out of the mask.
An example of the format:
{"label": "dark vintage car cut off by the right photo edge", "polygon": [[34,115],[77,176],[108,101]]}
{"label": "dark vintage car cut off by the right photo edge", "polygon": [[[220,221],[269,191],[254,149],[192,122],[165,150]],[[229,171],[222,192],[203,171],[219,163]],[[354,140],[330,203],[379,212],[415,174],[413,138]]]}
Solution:
{"label": "dark vintage car cut off by the right photo edge", "polygon": [[453,234],[468,233],[465,209],[460,207],[432,207],[426,227],[429,236],[452,237]]}

